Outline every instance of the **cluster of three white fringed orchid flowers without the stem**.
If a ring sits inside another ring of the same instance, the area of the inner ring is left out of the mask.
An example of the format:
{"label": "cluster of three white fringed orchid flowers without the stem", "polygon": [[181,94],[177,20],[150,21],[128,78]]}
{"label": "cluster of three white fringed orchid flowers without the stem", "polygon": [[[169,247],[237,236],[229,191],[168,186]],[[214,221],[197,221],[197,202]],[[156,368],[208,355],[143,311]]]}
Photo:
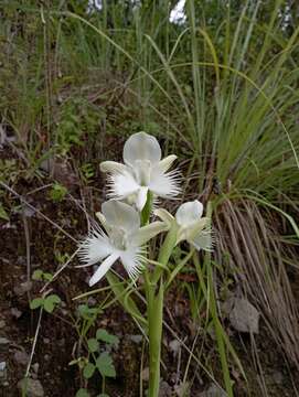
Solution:
{"label": "cluster of three white fringed orchid flowers without the stem", "polygon": [[140,215],[150,196],[174,198],[180,193],[179,173],[169,171],[177,155],[163,160],[161,157],[158,140],[138,132],[125,143],[124,164],[114,161],[100,164],[100,170],[108,173],[110,200],[96,214],[103,227],[92,229],[79,245],[82,267],[102,261],[89,280],[90,287],[118,259],[135,280],[146,262],[145,244],[172,227],[177,230],[177,244],[186,240],[196,249],[211,249],[209,219],[202,217],[203,205],[199,201],[182,204],[175,217],[158,208],[153,213],[161,221],[140,226]]}

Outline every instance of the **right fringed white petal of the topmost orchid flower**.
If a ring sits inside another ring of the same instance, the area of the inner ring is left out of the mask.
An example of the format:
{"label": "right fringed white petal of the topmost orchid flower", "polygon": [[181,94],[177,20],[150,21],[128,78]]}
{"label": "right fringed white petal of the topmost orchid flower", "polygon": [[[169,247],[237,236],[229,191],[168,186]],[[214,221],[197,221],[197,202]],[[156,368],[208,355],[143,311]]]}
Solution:
{"label": "right fringed white petal of the topmost orchid flower", "polygon": [[159,165],[156,167],[151,172],[149,189],[160,197],[175,197],[181,192],[179,187],[179,173],[177,171],[163,173]]}

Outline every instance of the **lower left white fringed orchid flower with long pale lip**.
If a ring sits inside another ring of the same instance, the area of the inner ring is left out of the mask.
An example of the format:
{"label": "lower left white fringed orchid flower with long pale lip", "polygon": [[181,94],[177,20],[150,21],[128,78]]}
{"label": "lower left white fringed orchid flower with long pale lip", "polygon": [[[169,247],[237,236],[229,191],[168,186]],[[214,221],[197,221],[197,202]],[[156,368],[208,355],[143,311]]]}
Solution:
{"label": "lower left white fringed orchid flower with long pale lip", "polygon": [[96,214],[106,233],[98,226],[79,245],[79,258],[86,267],[103,260],[89,286],[98,282],[110,267],[120,259],[129,277],[136,280],[146,258],[145,244],[167,229],[163,222],[153,222],[140,227],[140,215],[128,204],[110,200],[103,203]]}

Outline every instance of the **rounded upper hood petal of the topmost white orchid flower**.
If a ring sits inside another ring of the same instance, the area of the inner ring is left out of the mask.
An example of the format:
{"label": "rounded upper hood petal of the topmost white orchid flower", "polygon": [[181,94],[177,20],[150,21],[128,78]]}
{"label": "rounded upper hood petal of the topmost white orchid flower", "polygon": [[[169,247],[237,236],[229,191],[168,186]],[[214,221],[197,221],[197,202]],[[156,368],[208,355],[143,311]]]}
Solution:
{"label": "rounded upper hood petal of the topmost white orchid flower", "polygon": [[136,160],[149,160],[152,164],[161,159],[161,148],[158,140],[146,133],[137,132],[130,136],[124,147],[124,161],[134,167]]}

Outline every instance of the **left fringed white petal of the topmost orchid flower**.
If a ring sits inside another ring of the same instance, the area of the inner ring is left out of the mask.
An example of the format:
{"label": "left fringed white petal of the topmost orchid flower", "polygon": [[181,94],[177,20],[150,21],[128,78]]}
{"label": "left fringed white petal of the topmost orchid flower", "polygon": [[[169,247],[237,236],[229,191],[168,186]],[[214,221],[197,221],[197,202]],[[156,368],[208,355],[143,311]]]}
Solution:
{"label": "left fringed white petal of the topmost orchid flower", "polygon": [[109,196],[115,198],[126,198],[135,194],[140,185],[130,172],[111,174],[108,180]]}

